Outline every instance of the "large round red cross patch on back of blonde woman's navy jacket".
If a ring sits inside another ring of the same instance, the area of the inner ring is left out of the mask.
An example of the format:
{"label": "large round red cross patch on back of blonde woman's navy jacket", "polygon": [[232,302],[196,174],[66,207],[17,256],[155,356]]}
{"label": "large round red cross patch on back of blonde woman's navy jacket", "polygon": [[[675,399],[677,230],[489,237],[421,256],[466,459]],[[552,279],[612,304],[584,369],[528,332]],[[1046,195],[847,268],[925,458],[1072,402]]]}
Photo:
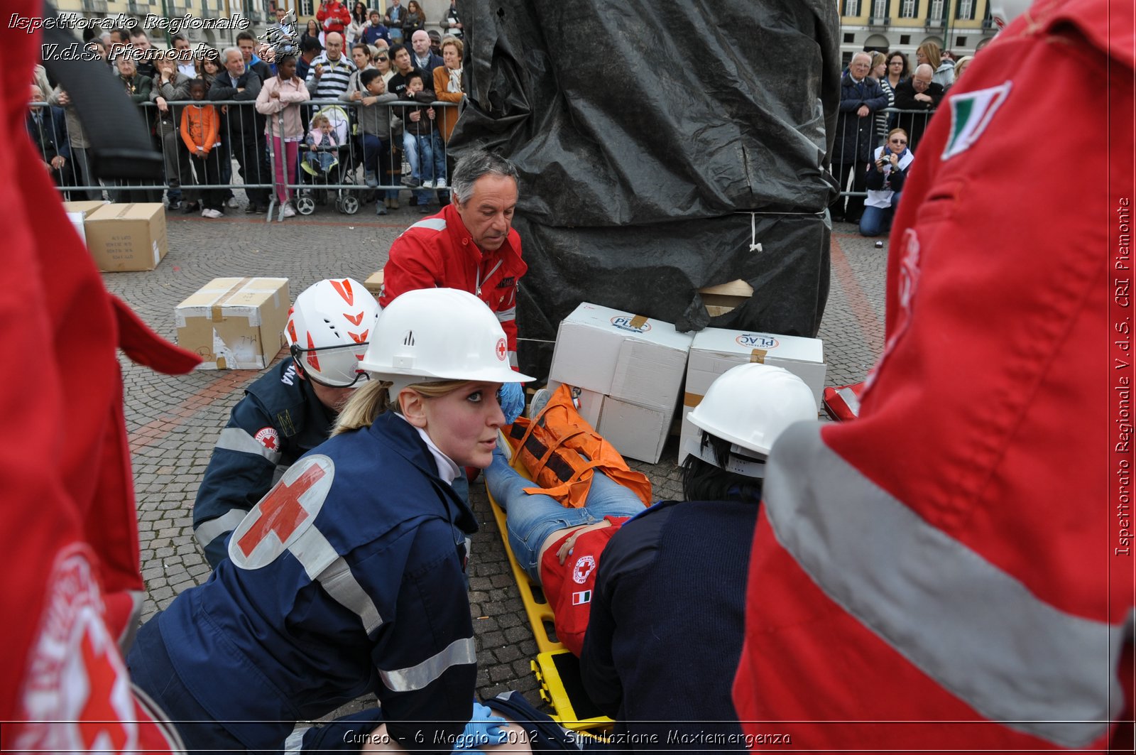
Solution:
{"label": "large round red cross patch on back of blonde woman's navy jacket", "polygon": [[335,464],[321,454],[289,467],[249,515],[233,530],[228,557],[242,569],[273,563],[308,530],[324,506]]}

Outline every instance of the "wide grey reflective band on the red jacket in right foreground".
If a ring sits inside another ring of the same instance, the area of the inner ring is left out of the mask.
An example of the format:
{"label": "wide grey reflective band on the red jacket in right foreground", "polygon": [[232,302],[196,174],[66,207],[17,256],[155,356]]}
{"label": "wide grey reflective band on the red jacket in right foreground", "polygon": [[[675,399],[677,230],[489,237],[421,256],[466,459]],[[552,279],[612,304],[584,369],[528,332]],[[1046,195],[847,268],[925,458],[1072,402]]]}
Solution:
{"label": "wide grey reflective band on the red jacket in right foreground", "polygon": [[817,423],[777,440],[763,501],[829,598],[986,719],[1063,747],[1108,732],[1136,614],[1110,625],[1038,599],[863,476]]}

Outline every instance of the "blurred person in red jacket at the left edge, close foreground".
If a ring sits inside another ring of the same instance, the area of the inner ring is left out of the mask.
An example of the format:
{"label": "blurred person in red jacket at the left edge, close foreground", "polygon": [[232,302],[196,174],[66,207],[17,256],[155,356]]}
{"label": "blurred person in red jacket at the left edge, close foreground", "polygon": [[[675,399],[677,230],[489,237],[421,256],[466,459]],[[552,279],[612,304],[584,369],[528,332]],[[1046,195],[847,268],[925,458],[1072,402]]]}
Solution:
{"label": "blurred person in red jacket at the left edge, close foreground", "polygon": [[0,391],[12,440],[0,461],[0,748],[168,753],[176,736],[134,697],[120,652],[145,587],[117,349],[168,373],[199,359],[103,289],[24,128],[40,34],[5,26],[0,41],[16,61],[0,77],[0,337],[14,357]]}

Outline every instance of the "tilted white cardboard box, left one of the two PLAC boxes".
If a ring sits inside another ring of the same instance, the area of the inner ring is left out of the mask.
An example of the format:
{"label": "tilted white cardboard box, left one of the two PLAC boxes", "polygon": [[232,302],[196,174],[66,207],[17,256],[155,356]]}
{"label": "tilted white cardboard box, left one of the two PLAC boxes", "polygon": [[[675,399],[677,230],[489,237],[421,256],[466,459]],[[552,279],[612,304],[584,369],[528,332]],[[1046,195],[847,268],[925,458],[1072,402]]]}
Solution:
{"label": "tilted white cardboard box, left one of the two PLAC boxes", "polygon": [[582,408],[596,431],[624,456],[653,464],[675,415],[692,340],[670,323],[582,304],[560,323],[549,379],[583,389],[588,400]]}

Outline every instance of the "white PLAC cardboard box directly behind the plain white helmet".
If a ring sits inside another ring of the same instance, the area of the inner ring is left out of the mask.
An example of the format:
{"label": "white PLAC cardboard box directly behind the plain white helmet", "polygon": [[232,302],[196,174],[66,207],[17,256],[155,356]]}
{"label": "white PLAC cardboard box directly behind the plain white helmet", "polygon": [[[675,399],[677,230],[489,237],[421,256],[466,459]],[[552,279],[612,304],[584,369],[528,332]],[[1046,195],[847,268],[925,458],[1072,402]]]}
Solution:
{"label": "white PLAC cardboard box directly behind the plain white helmet", "polygon": [[700,432],[687,415],[702,401],[710,383],[718,375],[749,362],[761,362],[788,370],[805,382],[817,401],[817,409],[820,409],[825,374],[828,371],[825,364],[824,342],[820,339],[707,327],[695,333],[686,366],[683,428],[678,442],[679,464],[686,458],[683,448],[687,439],[696,438]]}

